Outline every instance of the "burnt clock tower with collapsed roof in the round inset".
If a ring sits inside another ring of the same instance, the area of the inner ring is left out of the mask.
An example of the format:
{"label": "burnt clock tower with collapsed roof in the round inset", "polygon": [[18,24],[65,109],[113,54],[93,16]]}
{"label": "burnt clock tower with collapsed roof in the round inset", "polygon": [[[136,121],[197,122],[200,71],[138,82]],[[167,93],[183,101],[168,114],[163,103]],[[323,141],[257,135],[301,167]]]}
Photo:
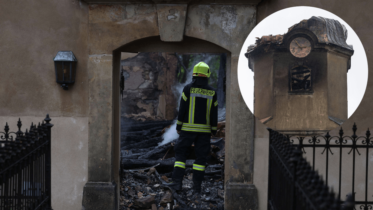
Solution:
{"label": "burnt clock tower with collapsed roof in the round inset", "polygon": [[334,19],[313,16],[283,35],[257,38],[245,56],[254,72],[254,115],[287,135],[313,136],[347,120],[352,46]]}

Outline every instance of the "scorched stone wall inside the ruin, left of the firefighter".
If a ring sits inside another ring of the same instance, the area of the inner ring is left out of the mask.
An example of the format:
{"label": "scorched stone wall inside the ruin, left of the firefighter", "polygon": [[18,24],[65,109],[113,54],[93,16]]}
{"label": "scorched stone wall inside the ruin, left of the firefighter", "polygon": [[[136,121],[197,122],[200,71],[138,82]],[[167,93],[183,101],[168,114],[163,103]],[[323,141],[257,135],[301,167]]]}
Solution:
{"label": "scorched stone wall inside the ruin, left of the firefighter", "polygon": [[177,115],[173,92],[177,82],[175,55],[141,52],[122,60],[121,65],[125,77],[121,115],[140,114],[147,118],[173,120]]}

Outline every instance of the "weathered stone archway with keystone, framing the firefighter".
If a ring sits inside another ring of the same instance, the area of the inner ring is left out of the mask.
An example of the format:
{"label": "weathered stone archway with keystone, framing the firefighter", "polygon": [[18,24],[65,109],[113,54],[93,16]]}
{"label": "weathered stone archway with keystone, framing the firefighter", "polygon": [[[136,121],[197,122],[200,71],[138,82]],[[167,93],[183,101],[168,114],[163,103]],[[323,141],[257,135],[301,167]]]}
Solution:
{"label": "weathered stone archway with keystone, framing the firefighter", "polygon": [[[164,18],[172,10],[179,19]],[[250,5],[90,5],[88,182],[83,192],[84,209],[119,207],[121,52],[227,53],[225,209],[256,206],[252,184],[254,117],[242,99],[237,79],[239,50],[255,25],[255,12]],[[183,40],[173,40],[175,37]]]}

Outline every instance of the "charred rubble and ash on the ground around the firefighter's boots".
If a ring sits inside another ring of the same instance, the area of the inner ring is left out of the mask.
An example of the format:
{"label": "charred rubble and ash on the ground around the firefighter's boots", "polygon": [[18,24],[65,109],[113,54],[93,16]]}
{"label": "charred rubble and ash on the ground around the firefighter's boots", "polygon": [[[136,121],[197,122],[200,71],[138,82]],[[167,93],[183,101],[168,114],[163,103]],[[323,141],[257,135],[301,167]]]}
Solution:
{"label": "charred rubble and ash on the ground around the firefighter's boots", "polygon": [[[207,166],[206,171],[213,171],[218,167],[221,166]],[[191,169],[186,171],[191,171]],[[172,179],[167,177],[171,177],[172,172],[160,174],[160,176],[163,182],[166,180],[172,182]],[[173,209],[224,209],[224,185],[221,178],[205,177],[201,193],[194,193],[192,173],[186,173],[183,179],[183,190],[171,189],[172,197],[170,197],[165,196],[169,189],[162,186],[154,173],[124,170],[120,178],[120,191],[119,209],[121,210],[167,210],[167,203],[170,203],[170,209],[172,207]]]}

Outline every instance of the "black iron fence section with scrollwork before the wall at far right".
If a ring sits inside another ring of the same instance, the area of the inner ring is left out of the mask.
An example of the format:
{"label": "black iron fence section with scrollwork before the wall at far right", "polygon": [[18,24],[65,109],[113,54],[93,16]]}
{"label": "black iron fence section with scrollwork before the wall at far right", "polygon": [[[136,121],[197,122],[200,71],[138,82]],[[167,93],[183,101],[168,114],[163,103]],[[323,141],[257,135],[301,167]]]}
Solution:
{"label": "black iron fence section with scrollwork before the wall at far right", "polygon": [[[356,130],[354,124],[352,136],[343,136],[344,132],[341,128],[339,136],[330,136],[328,132],[324,136],[309,138],[287,136],[287,139],[294,145],[298,145],[303,150],[304,156],[312,160],[313,170],[316,166],[316,169],[324,172],[326,185],[330,182],[330,178],[333,178],[334,182],[329,185],[338,185],[339,199],[346,195],[342,194],[343,186],[352,192],[355,209],[372,210],[373,140],[369,129],[366,136],[357,136]],[[355,182],[358,182],[358,189]]]}

